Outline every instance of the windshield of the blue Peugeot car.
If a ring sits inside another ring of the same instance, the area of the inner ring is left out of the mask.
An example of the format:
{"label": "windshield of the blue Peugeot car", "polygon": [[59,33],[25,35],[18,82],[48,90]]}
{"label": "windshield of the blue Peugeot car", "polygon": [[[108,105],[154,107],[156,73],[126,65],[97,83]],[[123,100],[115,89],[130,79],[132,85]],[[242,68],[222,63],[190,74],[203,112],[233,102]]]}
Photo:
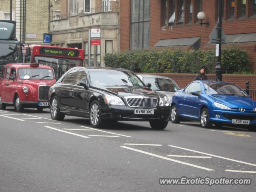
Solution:
{"label": "windshield of the blue Peugeot car", "polygon": [[240,97],[248,97],[244,90],[240,87],[224,82],[204,82],[204,90],[206,94],[232,95]]}

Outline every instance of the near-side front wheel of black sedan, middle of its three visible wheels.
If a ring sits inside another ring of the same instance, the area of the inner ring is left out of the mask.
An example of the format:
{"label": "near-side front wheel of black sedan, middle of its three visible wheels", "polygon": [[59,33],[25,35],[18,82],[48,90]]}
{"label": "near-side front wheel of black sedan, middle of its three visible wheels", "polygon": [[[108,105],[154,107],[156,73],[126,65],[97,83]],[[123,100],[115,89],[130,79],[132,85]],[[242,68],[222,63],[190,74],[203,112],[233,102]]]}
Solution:
{"label": "near-side front wheel of black sedan, middle of its three visible wheels", "polygon": [[103,120],[98,100],[94,100],[90,106],[90,124],[94,128],[102,128]]}

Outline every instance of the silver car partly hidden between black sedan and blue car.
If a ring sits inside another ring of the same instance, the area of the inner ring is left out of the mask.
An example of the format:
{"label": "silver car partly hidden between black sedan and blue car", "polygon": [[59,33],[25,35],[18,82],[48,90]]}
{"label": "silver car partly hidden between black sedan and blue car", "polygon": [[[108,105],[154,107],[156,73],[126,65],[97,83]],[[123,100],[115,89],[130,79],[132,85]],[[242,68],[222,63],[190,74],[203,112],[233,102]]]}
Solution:
{"label": "silver car partly hidden between black sedan and blue car", "polygon": [[165,76],[150,74],[138,74],[137,76],[145,85],[150,83],[152,90],[165,94],[169,98],[170,103],[172,102],[173,94],[180,89],[174,80]]}

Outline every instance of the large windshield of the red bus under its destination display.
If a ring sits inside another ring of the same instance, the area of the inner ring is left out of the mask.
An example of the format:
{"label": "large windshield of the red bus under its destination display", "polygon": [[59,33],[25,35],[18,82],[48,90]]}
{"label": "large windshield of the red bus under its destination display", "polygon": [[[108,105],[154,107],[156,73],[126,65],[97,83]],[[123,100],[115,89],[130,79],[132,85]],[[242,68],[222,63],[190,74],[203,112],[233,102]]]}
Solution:
{"label": "large windshield of the red bus under its destination display", "polygon": [[70,58],[52,58],[35,56],[33,62],[51,66],[54,69],[56,78],[60,78],[65,72],[67,72],[72,67],[82,66],[82,60]]}

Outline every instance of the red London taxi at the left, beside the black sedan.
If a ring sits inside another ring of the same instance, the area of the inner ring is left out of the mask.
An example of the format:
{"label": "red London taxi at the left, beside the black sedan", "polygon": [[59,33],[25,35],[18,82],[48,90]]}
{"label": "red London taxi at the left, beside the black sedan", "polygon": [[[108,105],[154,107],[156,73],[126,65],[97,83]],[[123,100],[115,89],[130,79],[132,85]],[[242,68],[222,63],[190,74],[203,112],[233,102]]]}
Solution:
{"label": "red London taxi at the left, beside the black sedan", "polygon": [[13,105],[24,108],[49,108],[48,90],[55,83],[54,70],[38,63],[12,63],[3,67],[0,76],[0,109]]}

